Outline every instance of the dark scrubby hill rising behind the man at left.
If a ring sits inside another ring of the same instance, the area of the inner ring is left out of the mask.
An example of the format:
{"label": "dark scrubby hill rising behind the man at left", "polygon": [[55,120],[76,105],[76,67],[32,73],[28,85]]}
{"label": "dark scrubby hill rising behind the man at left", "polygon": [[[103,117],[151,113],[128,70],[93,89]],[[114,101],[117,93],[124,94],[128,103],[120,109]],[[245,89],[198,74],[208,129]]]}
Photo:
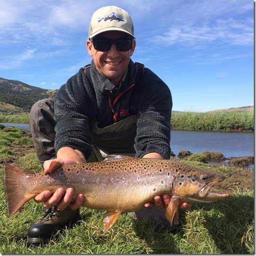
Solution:
{"label": "dark scrubby hill rising behind the man at left", "polygon": [[0,77],[0,113],[30,112],[31,106],[39,99],[54,98],[56,93],[57,90],[42,89]]}

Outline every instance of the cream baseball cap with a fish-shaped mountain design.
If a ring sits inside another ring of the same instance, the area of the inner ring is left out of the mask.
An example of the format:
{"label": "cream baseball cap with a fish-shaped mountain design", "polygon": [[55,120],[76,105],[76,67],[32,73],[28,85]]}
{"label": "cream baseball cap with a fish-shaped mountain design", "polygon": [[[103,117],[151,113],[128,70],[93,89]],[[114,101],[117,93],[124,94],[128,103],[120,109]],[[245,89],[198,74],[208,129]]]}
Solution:
{"label": "cream baseball cap with a fish-shaped mountain design", "polygon": [[135,38],[131,16],[125,10],[117,6],[105,6],[95,11],[89,25],[89,38],[113,30]]}

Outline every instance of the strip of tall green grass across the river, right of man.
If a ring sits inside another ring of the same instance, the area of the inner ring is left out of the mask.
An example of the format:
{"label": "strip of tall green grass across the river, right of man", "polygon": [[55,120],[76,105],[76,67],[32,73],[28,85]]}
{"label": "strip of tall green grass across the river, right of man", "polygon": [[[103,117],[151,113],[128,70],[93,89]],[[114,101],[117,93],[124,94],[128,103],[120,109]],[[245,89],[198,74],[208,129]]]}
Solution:
{"label": "strip of tall green grass across the river, right of man", "polygon": [[245,112],[173,112],[173,130],[187,131],[254,131],[254,113]]}

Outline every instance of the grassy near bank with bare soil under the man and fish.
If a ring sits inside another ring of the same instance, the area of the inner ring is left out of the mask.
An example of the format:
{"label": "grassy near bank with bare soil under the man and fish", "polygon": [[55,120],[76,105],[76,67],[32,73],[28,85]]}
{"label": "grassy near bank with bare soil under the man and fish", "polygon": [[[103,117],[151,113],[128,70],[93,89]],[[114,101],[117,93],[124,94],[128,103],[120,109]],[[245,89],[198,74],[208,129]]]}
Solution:
{"label": "grassy near bank with bare soil under the man and fish", "polygon": [[[0,130],[1,131],[1,130]],[[3,163],[10,162],[25,170],[42,171],[31,134],[20,129],[6,127],[0,132],[0,178],[3,180]],[[3,147],[5,143],[5,148]],[[188,152],[187,152],[188,153]],[[195,154],[194,154],[195,155]],[[190,157],[190,158],[189,158]],[[207,154],[208,160],[220,158],[220,154]],[[231,196],[211,204],[193,204],[190,211],[179,211],[180,224],[173,232],[154,230],[148,222],[136,221],[122,214],[113,228],[102,233],[102,211],[81,207],[82,221],[65,230],[58,240],[49,246],[28,247],[26,233],[29,226],[42,217],[42,205],[33,200],[19,213],[7,218],[3,182],[0,184],[0,208],[2,231],[1,253],[54,254],[62,253],[124,253],[124,254],[252,254],[254,173],[246,168],[215,165],[202,162],[193,154],[175,159],[208,171],[220,172],[225,180],[212,189],[216,193]],[[67,247],[67,241],[69,246]],[[101,245],[109,245],[101,246]],[[72,248],[72,251],[70,251]]]}

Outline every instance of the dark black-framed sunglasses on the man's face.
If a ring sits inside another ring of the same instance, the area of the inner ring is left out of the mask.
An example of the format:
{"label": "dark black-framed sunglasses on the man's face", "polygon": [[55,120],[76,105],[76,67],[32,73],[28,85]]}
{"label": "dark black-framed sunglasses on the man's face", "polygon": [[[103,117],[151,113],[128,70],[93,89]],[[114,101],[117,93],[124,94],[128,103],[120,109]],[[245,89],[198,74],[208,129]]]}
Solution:
{"label": "dark black-framed sunglasses on the man's face", "polygon": [[115,44],[117,51],[129,51],[132,48],[132,38],[119,38],[119,39],[108,39],[108,38],[92,38],[90,41],[93,43],[94,48],[97,51],[109,51],[112,44]]}

